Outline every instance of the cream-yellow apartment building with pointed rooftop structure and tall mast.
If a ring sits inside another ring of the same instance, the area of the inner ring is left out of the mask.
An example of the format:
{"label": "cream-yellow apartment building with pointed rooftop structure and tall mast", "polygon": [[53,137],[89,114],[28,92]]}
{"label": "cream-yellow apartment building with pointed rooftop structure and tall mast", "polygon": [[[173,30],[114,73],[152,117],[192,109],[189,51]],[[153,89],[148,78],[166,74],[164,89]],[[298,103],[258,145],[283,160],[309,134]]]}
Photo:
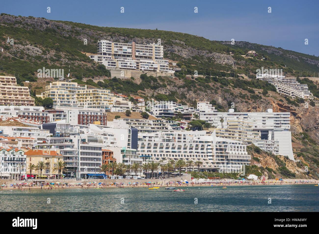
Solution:
{"label": "cream-yellow apartment building with pointed rooftop structure and tall mast", "polygon": [[86,89],[86,85],[79,85],[72,82],[74,79],[60,78],[45,87],[45,91],[41,93],[42,98],[50,97],[53,105],[77,107],[76,94],[78,90]]}

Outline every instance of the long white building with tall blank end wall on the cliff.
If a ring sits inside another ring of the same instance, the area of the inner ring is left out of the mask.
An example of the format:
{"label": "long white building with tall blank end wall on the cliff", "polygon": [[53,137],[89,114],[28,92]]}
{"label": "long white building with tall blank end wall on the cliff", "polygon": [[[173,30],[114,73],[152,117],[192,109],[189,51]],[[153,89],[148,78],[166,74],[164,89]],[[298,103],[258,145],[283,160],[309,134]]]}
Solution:
{"label": "long white building with tall blank end wall on the cliff", "polygon": [[[227,128],[228,120],[240,120],[253,124],[253,131],[260,132],[262,140],[279,141],[278,154],[288,156],[294,160],[291,143],[290,113],[289,112],[216,112],[208,110],[210,104],[202,105],[200,108],[200,120],[204,120],[217,128]],[[220,120],[223,119],[223,122]],[[277,152],[274,152],[277,153]]]}

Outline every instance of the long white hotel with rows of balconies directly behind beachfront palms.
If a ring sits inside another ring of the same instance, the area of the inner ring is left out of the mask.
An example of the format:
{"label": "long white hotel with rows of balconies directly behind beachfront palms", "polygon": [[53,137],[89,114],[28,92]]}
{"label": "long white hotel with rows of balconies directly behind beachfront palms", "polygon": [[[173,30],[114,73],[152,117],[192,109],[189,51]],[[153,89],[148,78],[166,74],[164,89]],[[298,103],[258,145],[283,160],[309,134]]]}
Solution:
{"label": "long white hotel with rows of balconies directly behind beachfront palms", "polygon": [[241,169],[249,165],[251,156],[240,141],[216,137],[215,132],[172,131],[141,133],[138,138],[139,154],[153,161],[201,161],[201,169]]}

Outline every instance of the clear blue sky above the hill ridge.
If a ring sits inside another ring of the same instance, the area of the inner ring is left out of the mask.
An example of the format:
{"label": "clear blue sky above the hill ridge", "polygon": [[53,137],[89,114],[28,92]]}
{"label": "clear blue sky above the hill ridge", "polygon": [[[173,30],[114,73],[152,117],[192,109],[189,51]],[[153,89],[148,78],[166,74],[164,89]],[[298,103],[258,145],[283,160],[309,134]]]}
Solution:
{"label": "clear blue sky above the hill ridge", "polygon": [[[12,15],[108,27],[158,28],[211,40],[234,38],[319,55],[318,0],[0,1],[0,12]],[[51,13],[47,13],[48,6]],[[120,12],[121,7],[124,13]],[[194,7],[198,7],[198,13],[194,13]]]}

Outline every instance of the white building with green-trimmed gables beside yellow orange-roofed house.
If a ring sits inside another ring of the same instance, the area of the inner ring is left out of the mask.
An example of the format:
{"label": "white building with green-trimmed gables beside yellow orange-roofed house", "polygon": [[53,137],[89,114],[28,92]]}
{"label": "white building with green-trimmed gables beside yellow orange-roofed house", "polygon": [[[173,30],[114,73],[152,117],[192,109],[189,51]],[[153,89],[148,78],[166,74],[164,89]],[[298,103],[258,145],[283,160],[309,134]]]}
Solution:
{"label": "white building with green-trimmed gables beside yellow orange-roofed house", "polygon": [[0,179],[19,180],[20,175],[26,174],[26,170],[26,156],[23,150],[0,147]]}

